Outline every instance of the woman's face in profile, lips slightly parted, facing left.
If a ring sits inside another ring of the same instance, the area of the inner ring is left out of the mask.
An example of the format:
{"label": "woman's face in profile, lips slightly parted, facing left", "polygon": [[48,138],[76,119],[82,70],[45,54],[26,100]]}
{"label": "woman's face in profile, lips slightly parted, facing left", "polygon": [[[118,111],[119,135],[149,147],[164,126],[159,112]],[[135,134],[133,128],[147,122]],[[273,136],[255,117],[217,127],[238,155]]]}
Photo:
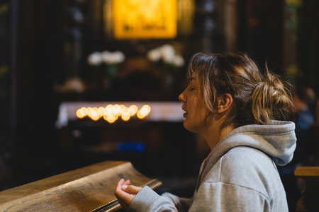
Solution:
{"label": "woman's face in profile, lips slightly parted, facing left", "polygon": [[184,127],[194,133],[203,131],[208,110],[198,94],[198,85],[194,77],[190,78],[189,85],[179,95],[179,100],[183,102],[182,109],[185,111]]}

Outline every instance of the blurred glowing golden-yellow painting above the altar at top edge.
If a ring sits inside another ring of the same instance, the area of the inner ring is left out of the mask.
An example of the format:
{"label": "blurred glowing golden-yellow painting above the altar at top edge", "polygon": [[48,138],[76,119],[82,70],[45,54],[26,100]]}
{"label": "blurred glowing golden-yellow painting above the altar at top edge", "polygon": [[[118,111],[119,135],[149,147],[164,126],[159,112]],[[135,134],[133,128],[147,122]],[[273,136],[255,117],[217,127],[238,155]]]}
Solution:
{"label": "blurred glowing golden-yellow painting above the altar at top edge", "polygon": [[116,39],[174,38],[177,0],[113,0]]}

